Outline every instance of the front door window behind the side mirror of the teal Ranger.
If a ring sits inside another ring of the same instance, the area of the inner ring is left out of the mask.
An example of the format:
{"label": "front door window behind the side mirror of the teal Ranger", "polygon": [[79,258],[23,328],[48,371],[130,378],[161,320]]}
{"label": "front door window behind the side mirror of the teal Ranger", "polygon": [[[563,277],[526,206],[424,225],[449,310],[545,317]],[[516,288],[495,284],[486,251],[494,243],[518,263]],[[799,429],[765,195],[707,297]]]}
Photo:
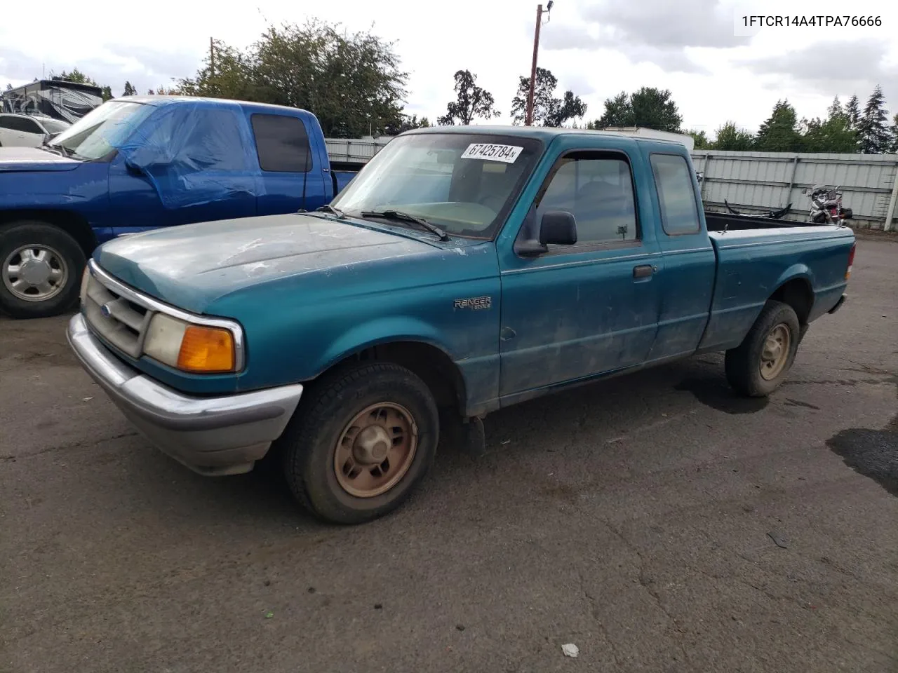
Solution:
{"label": "front door window behind the side mirror of the teal Ranger", "polygon": [[576,153],[559,159],[537,205],[536,221],[550,210],[574,215],[577,245],[639,238],[633,179],[621,158]]}

